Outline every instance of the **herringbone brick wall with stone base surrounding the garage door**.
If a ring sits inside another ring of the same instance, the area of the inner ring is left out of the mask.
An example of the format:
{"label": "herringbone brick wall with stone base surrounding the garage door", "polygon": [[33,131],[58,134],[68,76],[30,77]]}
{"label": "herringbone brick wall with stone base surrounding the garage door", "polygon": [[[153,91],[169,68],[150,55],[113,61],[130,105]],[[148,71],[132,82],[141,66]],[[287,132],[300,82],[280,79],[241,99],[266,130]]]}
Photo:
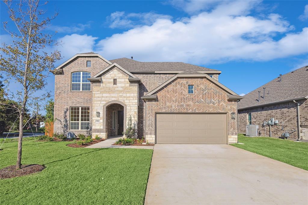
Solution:
{"label": "herringbone brick wall with stone base surrounding the garage door", "polygon": [[[194,94],[188,94],[194,85]],[[146,101],[146,139],[155,142],[155,113],[157,112],[221,112],[227,113],[228,143],[237,142],[236,100],[228,100],[227,93],[205,77],[176,78],[157,91],[156,100]]]}

